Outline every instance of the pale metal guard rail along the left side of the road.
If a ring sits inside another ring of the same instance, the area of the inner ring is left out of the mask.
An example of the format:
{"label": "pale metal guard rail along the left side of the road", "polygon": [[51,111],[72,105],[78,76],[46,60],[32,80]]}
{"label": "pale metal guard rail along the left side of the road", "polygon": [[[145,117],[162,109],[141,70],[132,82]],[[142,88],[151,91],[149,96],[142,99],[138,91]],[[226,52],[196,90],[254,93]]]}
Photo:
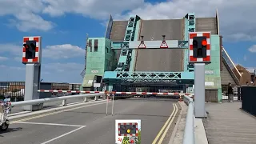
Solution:
{"label": "pale metal guard rail along the left side of the road", "polygon": [[67,99],[85,98],[84,101],[87,102],[86,98],[95,97],[95,100],[98,100],[98,96],[101,96],[101,95],[105,96],[105,94],[79,94],[79,95],[62,96],[62,97],[57,97],[57,98],[42,98],[42,99],[27,100],[27,101],[21,101],[21,102],[12,102],[11,106],[37,105],[37,104],[43,104],[46,102],[55,102],[55,101],[62,101],[62,105],[65,106]]}

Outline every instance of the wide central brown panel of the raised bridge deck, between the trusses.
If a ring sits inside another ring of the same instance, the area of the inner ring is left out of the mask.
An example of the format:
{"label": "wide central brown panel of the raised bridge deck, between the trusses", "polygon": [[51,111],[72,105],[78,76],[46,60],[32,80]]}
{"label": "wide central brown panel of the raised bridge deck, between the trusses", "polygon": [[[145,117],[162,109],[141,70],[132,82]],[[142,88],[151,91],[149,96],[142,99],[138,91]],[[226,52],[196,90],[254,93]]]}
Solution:
{"label": "wide central brown panel of the raised bridge deck, between the trusses", "polygon": [[[183,20],[143,20],[141,34],[145,41],[162,40],[162,35],[166,35],[166,40],[182,40]],[[182,71],[183,51],[176,49],[140,49],[138,50],[135,71]]]}

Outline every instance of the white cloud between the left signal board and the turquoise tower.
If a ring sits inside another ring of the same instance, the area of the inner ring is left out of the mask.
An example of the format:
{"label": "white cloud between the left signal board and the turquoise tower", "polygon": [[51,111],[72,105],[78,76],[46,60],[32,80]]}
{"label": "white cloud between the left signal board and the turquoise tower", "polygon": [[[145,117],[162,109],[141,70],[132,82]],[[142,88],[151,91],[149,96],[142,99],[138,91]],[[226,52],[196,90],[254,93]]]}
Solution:
{"label": "white cloud between the left signal board and the turquoise tower", "polygon": [[42,49],[43,58],[74,58],[85,54],[86,51],[84,49],[70,44],[46,46],[45,49]]}

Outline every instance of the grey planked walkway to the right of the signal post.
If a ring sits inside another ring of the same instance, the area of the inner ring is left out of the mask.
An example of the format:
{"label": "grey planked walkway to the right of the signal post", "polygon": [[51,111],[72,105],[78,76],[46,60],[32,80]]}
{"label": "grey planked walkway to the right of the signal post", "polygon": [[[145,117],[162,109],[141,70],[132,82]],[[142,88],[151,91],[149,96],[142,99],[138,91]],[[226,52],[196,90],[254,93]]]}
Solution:
{"label": "grey planked walkway to the right of the signal post", "polygon": [[242,102],[206,103],[203,123],[210,144],[256,144],[256,118],[241,107]]}

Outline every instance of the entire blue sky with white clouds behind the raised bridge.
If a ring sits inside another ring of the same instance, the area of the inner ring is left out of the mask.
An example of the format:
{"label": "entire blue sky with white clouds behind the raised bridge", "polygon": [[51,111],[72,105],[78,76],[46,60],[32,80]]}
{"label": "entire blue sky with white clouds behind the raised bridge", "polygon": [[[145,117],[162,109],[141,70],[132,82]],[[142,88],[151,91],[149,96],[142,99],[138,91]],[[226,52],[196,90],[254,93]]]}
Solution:
{"label": "entire blue sky with white clouds behind the raised bridge", "polygon": [[[104,0],[71,3],[62,0],[2,0],[0,1],[0,81],[24,81],[25,65],[22,64],[22,38],[42,36],[42,79],[45,82],[81,83],[84,66],[86,34],[103,37],[106,21],[112,14],[115,20],[138,14],[142,19],[182,18],[195,12],[199,17],[215,16],[218,8],[221,34],[230,57],[235,63],[256,67],[256,2],[234,0],[207,1],[214,9],[202,8],[205,1],[143,1]],[[186,2],[187,4],[184,4]],[[237,8],[241,12],[237,12]],[[190,10],[190,11],[188,11]],[[234,18],[234,14],[236,17]]]}

